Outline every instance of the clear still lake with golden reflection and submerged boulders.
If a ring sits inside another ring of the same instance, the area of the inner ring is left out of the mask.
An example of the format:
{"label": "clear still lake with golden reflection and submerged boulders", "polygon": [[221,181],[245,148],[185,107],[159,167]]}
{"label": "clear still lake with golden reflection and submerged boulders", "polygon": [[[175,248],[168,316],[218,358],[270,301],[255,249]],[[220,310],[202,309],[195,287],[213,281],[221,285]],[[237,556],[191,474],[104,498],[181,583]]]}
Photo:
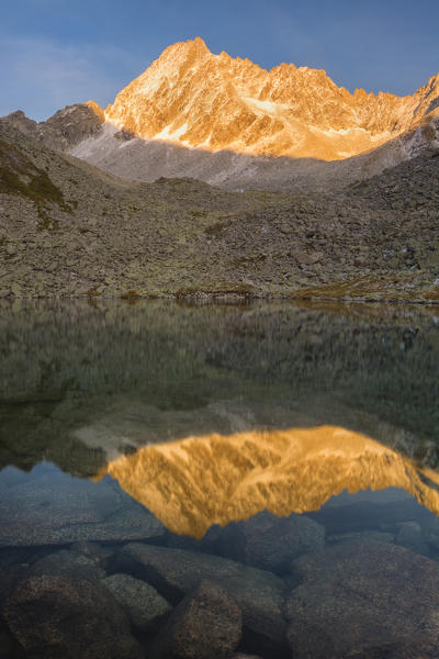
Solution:
{"label": "clear still lake with golden reflection and submerged boulders", "polygon": [[0,657],[437,657],[435,308],[0,312]]}

